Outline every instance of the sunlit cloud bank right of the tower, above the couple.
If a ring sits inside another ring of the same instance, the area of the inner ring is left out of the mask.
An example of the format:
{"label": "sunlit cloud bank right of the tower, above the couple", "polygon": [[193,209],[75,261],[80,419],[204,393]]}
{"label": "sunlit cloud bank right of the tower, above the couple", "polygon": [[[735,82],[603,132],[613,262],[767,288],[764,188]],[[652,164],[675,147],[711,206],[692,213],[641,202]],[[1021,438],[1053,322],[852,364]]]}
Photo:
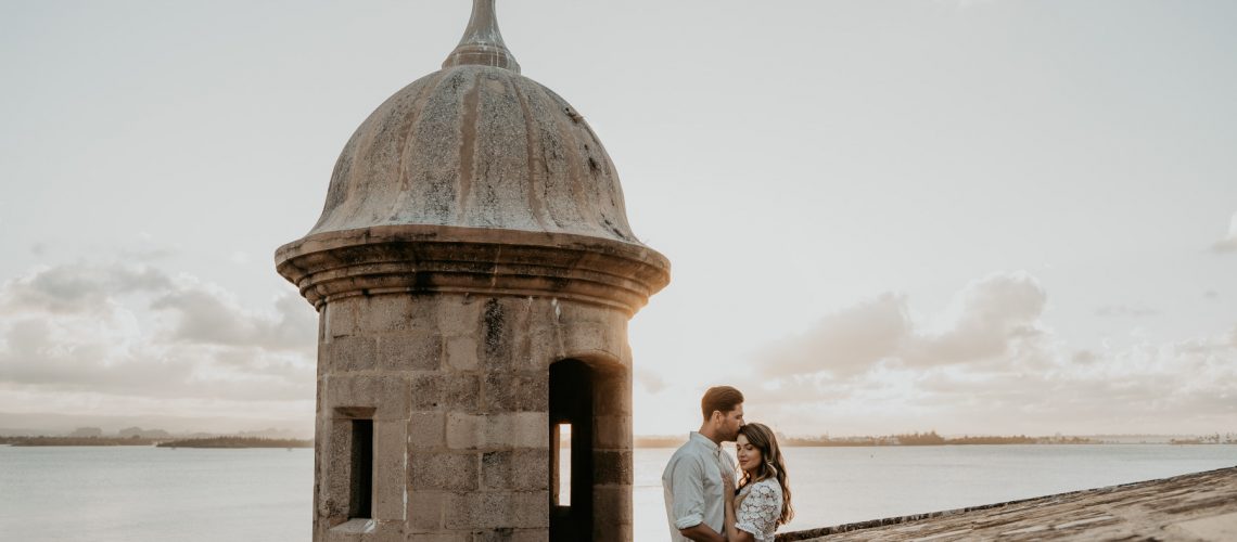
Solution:
{"label": "sunlit cloud bank right of the tower, above the couple", "polygon": [[[792,433],[1215,431],[1237,422],[1237,327],[1071,348],[1027,273],[962,288],[935,319],[884,294],[757,354],[748,410]],[[835,351],[836,349],[836,351]],[[750,416],[755,420],[755,416]]]}

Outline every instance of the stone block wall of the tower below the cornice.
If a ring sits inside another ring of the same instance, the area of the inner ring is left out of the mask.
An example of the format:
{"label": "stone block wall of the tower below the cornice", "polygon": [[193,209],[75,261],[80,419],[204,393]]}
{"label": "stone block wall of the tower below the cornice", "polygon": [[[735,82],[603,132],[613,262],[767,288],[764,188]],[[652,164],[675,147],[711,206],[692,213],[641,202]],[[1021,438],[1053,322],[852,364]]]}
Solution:
{"label": "stone block wall of the tower below the cornice", "polygon": [[[320,319],[315,541],[546,540],[548,368],[564,358],[612,384],[595,399],[595,528],[631,538],[627,314],[553,298],[434,293],[338,299]],[[367,416],[369,531],[341,526],[350,417]]]}

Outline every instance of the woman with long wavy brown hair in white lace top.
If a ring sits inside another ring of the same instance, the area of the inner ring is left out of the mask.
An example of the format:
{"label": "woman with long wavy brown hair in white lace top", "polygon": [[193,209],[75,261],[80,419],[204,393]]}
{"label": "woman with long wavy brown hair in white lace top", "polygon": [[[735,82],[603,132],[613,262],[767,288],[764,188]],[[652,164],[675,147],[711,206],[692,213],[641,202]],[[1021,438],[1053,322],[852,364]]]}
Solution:
{"label": "woman with long wavy brown hair in white lace top", "polygon": [[735,456],[742,475],[738,491],[730,477],[726,485],[726,540],[773,542],[773,531],[794,517],[785,461],[773,431],[763,423],[738,428]]}

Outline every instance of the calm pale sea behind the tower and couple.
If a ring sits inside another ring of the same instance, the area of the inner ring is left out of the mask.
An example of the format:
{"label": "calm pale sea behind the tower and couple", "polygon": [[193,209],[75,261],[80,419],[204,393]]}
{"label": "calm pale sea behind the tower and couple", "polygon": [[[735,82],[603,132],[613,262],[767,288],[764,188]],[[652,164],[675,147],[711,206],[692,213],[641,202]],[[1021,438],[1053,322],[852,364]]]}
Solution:
{"label": "calm pale sea behind the tower and couple", "polygon": [[[661,473],[636,451],[636,540],[666,538]],[[948,510],[1237,465],[1237,446],[788,448],[784,530]],[[306,541],[309,449],[0,446],[0,540]]]}

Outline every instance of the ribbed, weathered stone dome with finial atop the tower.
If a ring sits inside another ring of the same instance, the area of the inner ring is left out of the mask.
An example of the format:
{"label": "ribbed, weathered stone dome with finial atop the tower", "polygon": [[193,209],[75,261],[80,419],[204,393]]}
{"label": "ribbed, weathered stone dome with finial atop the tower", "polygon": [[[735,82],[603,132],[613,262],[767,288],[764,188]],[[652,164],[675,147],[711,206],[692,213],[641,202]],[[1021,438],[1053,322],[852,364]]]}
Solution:
{"label": "ribbed, weathered stone dome with finial atop the tower", "polygon": [[475,2],[443,65],[356,130],[309,236],[428,225],[640,244],[601,141],[565,100],[520,74],[492,0]]}

